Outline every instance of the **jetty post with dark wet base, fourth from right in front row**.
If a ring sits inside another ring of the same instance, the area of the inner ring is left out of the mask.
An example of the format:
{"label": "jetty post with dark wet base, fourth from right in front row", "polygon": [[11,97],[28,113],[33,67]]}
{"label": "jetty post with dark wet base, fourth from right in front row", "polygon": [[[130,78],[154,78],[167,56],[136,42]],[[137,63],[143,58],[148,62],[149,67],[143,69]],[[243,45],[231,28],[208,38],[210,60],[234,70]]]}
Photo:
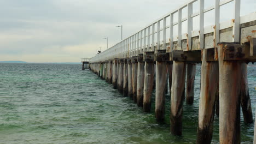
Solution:
{"label": "jetty post with dark wet base, fourth from right in front row", "polygon": [[156,50],[154,54],[156,61],[155,73],[155,118],[159,123],[164,122],[165,118],[165,87],[168,73],[167,61],[169,55],[166,50]]}

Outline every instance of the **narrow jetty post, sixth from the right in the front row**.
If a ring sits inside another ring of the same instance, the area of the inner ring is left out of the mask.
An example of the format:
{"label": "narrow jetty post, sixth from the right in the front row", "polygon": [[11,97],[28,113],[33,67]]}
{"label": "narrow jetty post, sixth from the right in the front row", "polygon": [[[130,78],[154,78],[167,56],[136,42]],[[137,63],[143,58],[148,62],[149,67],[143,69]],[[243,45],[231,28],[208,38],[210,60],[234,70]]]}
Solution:
{"label": "narrow jetty post, sixth from the right in the front row", "polygon": [[143,54],[138,54],[138,74],[137,74],[137,105],[143,106],[143,91],[144,91],[144,67]]}

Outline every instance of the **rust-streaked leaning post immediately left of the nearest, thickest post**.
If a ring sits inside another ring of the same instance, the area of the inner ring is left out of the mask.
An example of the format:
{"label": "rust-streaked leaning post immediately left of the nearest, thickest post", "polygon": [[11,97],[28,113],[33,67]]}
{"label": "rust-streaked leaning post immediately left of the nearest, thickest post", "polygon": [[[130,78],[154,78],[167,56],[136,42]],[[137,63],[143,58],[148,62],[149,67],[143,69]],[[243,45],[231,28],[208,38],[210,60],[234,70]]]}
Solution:
{"label": "rust-streaked leaning post immediately left of the nearest, thickest post", "polygon": [[219,65],[217,61],[206,61],[207,50],[202,51],[197,143],[210,144],[213,134],[215,101],[218,95]]}

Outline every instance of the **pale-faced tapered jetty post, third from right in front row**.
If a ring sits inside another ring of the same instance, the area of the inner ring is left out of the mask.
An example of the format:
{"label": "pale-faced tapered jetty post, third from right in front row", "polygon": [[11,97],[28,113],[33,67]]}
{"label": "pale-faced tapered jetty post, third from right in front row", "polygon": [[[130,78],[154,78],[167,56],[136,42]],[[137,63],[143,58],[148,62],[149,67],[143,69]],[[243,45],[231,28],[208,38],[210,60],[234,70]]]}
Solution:
{"label": "pale-faced tapered jetty post, third from right in front row", "polygon": [[182,135],[182,113],[185,97],[185,74],[186,63],[173,61],[172,65],[172,88],[171,88],[171,133]]}

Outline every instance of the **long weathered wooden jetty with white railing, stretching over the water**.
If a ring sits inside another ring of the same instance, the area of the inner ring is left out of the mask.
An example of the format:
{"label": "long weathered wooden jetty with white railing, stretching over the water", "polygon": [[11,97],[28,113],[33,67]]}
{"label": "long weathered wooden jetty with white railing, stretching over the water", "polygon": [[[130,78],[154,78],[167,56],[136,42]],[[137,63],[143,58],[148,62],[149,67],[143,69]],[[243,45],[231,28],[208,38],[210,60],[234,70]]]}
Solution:
{"label": "long weathered wooden jetty with white railing, stretching over the water", "polygon": [[[196,1],[199,12],[193,13]],[[234,2],[234,19],[220,23],[220,6],[230,2]],[[240,107],[245,123],[253,123],[246,64],[256,61],[256,13],[240,16],[240,3],[240,0],[215,0],[214,5],[205,8],[204,0],[190,1],[92,57],[91,70],[102,79],[111,80],[114,88],[142,106],[144,112],[151,109],[155,85],[155,118],[159,123],[165,119],[168,79],[170,130],[173,135],[182,135],[182,127],[186,127],[182,124],[183,103],[193,104],[195,68],[196,63],[201,63],[196,142],[211,143],[217,113],[219,143],[240,143]],[[187,9],[185,18],[184,9]],[[204,26],[204,14],[210,10],[215,11],[215,24]],[[173,20],[174,14],[178,15],[177,22]],[[196,16],[200,27],[193,30],[192,19]],[[187,32],[182,33],[185,21]],[[173,36],[174,26],[177,37]],[[166,38],[167,32],[171,38]]]}

